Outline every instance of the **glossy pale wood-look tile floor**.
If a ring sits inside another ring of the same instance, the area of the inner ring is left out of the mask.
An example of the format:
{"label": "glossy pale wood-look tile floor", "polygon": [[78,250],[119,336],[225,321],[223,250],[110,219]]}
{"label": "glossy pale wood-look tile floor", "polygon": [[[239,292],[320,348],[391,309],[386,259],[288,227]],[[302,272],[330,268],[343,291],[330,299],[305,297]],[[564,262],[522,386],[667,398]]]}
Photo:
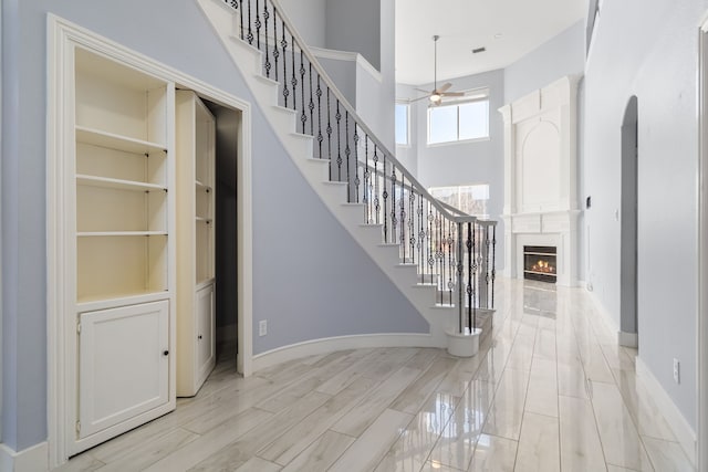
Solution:
{"label": "glossy pale wood-look tile floor", "polygon": [[691,471],[577,289],[502,281],[469,359],[377,348],[240,378],[220,363],[177,410],[62,471]]}

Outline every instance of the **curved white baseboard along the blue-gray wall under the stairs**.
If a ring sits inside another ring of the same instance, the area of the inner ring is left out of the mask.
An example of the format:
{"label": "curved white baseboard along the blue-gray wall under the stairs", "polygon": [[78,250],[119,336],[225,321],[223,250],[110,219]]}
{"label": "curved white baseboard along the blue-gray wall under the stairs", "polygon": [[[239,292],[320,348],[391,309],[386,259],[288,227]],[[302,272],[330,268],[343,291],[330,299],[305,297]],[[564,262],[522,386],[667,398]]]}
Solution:
{"label": "curved white baseboard along the blue-gray wall under the stairs", "polygon": [[353,336],[326,337],[291,344],[253,356],[253,371],[262,370],[285,360],[315,356],[344,349],[367,347],[431,347],[429,334],[364,334]]}

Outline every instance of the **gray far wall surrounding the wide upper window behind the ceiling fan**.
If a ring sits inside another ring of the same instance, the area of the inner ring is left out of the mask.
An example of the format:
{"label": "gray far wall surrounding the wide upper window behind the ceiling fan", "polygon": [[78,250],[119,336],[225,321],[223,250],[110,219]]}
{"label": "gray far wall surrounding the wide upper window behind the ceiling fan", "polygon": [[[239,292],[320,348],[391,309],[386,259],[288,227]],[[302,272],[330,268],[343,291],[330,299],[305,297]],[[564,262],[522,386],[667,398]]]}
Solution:
{"label": "gray far wall surrounding the wide upper window behind the ceiling fan", "polygon": [[[489,183],[489,217],[499,221],[497,234],[503,234],[503,221],[500,219],[504,196],[503,120],[497,109],[504,104],[504,72],[498,70],[446,82],[452,84],[450,90],[454,91],[489,88],[489,139],[428,146],[428,101],[413,103],[415,127],[412,128],[412,139],[417,150],[417,177],[426,188]],[[425,84],[418,88],[433,90],[433,84]],[[404,94],[408,98],[421,94],[413,91],[413,87],[402,85],[398,93],[399,98],[403,98]],[[410,159],[410,156],[406,158]],[[503,265],[503,238],[497,238],[497,266]]]}

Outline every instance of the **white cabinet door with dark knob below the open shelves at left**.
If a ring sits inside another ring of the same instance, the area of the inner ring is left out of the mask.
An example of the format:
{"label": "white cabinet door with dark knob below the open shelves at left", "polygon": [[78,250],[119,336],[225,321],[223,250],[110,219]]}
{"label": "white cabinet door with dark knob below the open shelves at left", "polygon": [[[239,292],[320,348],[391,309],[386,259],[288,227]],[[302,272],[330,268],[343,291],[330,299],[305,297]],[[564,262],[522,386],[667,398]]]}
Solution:
{"label": "white cabinet door with dark knob below the open shelves at left", "polygon": [[169,303],[80,315],[79,439],[169,401]]}

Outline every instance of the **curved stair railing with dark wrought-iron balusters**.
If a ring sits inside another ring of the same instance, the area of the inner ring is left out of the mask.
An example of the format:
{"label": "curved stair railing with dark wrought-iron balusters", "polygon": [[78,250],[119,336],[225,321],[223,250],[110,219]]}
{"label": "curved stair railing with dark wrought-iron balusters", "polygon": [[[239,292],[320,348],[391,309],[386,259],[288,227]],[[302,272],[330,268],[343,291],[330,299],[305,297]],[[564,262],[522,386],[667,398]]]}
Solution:
{"label": "curved stair railing with dark wrought-iron balusters", "polygon": [[496,221],[460,212],[426,188],[377,138],[329,77],[278,0],[223,0],[235,31],[262,52],[262,74],[279,84],[278,104],[314,138],[314,158],[330,161],[330,180],[361,203],[364,224],[398,244],[421,284],[437,286],[436,303],[458,310],[458,333],[477,328],[477,310],[493,308]]}

